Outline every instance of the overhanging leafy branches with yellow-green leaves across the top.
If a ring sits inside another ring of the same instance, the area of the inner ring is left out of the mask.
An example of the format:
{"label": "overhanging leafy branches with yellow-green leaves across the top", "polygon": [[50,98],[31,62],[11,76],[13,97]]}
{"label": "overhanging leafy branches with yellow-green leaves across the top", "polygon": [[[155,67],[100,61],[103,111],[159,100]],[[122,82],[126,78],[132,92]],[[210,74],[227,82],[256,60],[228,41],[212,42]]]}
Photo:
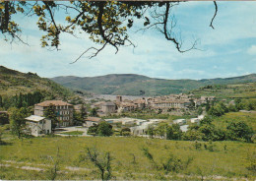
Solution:
{"label": "overhanging leafy branches with yellow-green leaves across the top", "polygon": [[[211,21],[217,15],[216,12]],[[172,13],[172,8],[179,5],[179,2],[129,2],[129,1],[2,1],[0,2],[0,31],[5,40],[13,42],[18,39],[26,43],[21,38],[19,25],[15,22],[14,15],[22,14],[25,17],[37,16],[36,23],[39,30],[44,31],[41,37],[41,46],[49,49],[59,49],[60,34],[69,33],[75,37],[85,32],[89,38],[98,46],[86,49],[75,62],[84,54],[92,53],[89,58],[95,57],[104,47],[112,46],[115,53],[121,46],[133,46],[135,44],[129,38],[129,30],[134,27],[135,22],[143,24],[139,30],[155,29],[159,30],[165,39],[172,42],[176,49],[183,53],[196,49],[195,40],[190,48],[182,47],[181,34],[175,33],[176,20]],[[64,23],[59,23],[59,18],[63,17]],[[139,20],[140,19],[140,20]]]}

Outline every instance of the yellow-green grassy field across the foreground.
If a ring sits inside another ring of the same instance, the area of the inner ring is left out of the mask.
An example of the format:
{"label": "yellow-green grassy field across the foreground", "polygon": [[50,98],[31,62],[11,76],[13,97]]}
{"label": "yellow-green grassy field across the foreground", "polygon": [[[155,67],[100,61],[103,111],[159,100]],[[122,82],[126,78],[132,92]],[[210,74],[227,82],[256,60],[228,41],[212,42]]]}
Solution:
{"label": "yellow-green grassy field across the foreground", "polygon": [[[194,142],[146,138],[44,137],[21,141],[5,134],[3,139],[6,144],[0,146],[0,161],[9,166],[1,167],[0,179],[47,179],[45,173],[52,164],[49,156],[55,157],[57,148],[61,174],[56,179],[99,179],[96,167],[83,158],[86,148],[110,152],[112,171],[117,180],[201,180],[201,175],[206,180],[256,178],[246,169],[246,158],[256,150],[254,144],[215,142],[214,151],[209,151],[204,149],[204,144],[209,143],[202,143],[202,148],[196,150]],[[185,170],[166,173],[156,169],[144,155],[143,148],[149,149],[158,165],[170,154],[182,161],[192,157],[193,161]],[[32,170],[34,167],[43,170]]]}

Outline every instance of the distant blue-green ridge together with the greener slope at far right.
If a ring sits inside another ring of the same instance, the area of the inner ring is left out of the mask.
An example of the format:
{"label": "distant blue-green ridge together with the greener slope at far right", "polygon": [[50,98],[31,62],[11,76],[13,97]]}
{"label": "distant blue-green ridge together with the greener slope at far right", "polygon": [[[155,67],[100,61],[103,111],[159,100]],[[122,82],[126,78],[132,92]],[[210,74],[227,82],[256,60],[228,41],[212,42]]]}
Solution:
{"label": "distant blue-green ridge together with the greener slope at far right", "polygon": [[[237,96],[248,91],[255,91],[255,74],[227,79],[212,80],[161,80],[139,75],[106,75],[95,78],[57,77],[54,82],[70,89],[91,91],[98,94],[127,94],[127,95],[164,95],[191,91],[197,95],[210,95],[221,97],[230,96],[230,92]],[[244,87],[226,86],[231,84],[245,84]],[[217,86],[208,86],[217,85]],[[220,85],[220,86],[218,86]],[[203,88],[202,88],[203,87]],[[202,88],[202,89],[200,89]],[[199,90],[196,90],[199,89]],[[196,91],[193,91],[196,90]],[[224,91],[224,94],[221,93]],[[143,92],[143,93],[142,93]],[[244,95],[243,95],[244,96]],[[255,97],[255,93],[254,93]]]}

